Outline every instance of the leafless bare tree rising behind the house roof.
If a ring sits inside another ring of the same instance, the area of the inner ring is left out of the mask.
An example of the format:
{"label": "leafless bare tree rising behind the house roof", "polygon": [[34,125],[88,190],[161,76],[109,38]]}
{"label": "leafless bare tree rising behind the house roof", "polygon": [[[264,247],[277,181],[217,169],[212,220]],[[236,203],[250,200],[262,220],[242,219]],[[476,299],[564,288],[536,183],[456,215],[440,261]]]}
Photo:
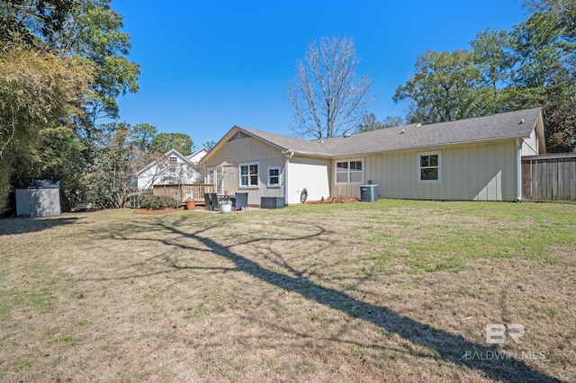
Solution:
{"label": "leafless bare tree rising behind the house roof", "polygon": [[335,36],[311,42],[285,94],[293,105],[297,136],[329,138],[356,128],[366,104],[374,101],[370,77],[356,76],[359,63],[352,39]]}

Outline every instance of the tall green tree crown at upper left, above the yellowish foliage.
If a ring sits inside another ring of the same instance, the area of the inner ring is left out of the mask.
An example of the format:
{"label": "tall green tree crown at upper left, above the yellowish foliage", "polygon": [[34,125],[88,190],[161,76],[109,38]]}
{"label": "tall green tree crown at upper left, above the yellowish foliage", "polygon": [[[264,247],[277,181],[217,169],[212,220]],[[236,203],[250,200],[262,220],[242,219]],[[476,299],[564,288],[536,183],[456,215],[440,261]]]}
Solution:
{"label": "tall green tree crown at upper left, above the yellowish foliage", "polygon": [[[85,93],[85,120],[91,135],[95,121],[118,117],[116,98],[138,92],[139,65],[130,62],[130,35],[111,0],[4,0],[0,3],[0,38],[33,41],[66,57],[85,58],[97,70]],[[15,34],[17,33],[17,35]],[[41,43],[40,43],[41,42]]]}

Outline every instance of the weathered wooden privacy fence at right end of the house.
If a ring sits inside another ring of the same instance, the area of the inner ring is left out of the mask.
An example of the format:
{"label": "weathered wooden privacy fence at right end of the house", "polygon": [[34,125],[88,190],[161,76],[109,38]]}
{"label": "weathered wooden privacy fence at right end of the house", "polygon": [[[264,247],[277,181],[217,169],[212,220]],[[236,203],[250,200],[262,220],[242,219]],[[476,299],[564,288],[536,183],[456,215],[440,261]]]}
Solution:
{"label": "weathered wooden privacy fence at right end of the house", "polygon": [[576,153],[522,157],[522,199],[576,201]]}

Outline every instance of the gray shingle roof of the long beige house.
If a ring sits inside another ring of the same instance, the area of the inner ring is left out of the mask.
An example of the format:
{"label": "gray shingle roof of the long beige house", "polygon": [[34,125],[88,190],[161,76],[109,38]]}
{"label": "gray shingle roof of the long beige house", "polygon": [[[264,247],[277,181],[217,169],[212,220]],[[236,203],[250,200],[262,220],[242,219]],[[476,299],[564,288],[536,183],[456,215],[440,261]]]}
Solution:
{"label": "gray shingle roof of the long beige house", "polygon": [[[404,125],[379,129],[349,137],[325,138],[309,141],[292,138],[257,129],[239,128],[247,134],[283,150],[311,156],[355,156],[423,147],[442,147],[498,140],[504,138],[526,138],[536,127],[541,115],[540,108],[524,111],[509,111],[486,117],[440,122],[436,124]],[[522,123],[520,121],[523,121]]]}

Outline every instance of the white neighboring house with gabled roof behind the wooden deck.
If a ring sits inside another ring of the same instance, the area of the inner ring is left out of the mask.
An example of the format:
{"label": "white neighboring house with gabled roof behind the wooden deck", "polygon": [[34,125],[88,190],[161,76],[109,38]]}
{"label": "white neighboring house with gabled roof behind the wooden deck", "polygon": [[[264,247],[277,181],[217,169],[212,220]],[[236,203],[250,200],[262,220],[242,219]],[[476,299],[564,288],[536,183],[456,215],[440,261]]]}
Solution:
{"label": "white neighboring house with gabled roof behind the wooden deck", "polygon": [[206,147],[190,156],[183,156],[176,149],[168,150],[136,174],[138,190],[151,190],[154,185],[203,182],[203,174],[198,173],[197,165],[206,153]]}

